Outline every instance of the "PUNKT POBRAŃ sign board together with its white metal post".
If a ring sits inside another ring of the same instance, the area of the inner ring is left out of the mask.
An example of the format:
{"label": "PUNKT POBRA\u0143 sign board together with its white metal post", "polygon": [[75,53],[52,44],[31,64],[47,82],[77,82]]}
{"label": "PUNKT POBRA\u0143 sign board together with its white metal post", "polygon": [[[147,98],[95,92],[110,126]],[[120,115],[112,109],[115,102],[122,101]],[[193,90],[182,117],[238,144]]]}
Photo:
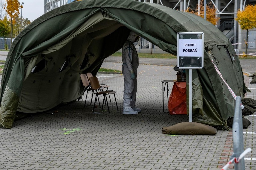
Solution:
{"label": "PUNKT POBRA\u0143 sign board together with its white metal post", "polygon": [[189,69],[189,122],[192,122],[192,69],[203,68],[203,32],[177,34],[179,69]]}

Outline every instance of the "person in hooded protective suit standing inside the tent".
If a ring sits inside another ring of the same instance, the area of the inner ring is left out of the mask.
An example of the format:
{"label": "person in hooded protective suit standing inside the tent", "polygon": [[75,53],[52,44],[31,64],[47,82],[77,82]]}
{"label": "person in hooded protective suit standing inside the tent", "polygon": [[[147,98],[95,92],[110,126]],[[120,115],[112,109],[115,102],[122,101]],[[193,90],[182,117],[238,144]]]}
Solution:
{"label": "person in hooded protective suit standing inside the tent", "polygon": [[141,109],[135,107],[139,56],[133,43],[138,41],[139,35],[131,31],[122,48],[123,114],[133,115],[141,112]]}

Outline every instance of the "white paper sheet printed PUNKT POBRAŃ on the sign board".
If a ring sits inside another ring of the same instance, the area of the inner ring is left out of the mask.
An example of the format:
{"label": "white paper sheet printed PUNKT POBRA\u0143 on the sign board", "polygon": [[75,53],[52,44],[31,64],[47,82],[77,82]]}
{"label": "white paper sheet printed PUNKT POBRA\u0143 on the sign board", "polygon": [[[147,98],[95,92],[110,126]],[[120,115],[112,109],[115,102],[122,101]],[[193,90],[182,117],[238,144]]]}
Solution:
{"label": "white paper sheet printed PUNKT POBRA\u0143 on the sign board", "polygon": [[179,40],[179,55],[187,57],[201,57],[202,40]]}

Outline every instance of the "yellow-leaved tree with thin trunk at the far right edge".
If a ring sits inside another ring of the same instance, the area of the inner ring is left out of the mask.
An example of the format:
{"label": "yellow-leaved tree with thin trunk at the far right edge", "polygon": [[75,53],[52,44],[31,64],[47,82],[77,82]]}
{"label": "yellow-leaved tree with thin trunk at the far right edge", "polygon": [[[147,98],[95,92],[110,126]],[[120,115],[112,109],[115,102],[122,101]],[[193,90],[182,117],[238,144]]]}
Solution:
{"label": "yellow-leaved tree with thin trunk at the far right edge", "polygon": [[247,5],[243,11],[240,9],[236,14],[236,21],[242,30],[246,30],[245,54],[248,48],[248,29],[256,28],[256,5]]}

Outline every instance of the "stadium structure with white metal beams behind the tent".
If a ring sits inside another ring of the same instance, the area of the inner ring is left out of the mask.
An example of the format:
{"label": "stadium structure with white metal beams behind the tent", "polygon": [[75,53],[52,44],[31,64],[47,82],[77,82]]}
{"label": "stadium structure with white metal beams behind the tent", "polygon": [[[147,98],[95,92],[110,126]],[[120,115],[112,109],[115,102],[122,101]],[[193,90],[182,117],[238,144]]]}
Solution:
{"label": "stadium structure with white metal beams behind the tent", "polygon": [[[44,0],[44,13],[59,6],[75,2],[77,0]],[[87,1],[87,0],[84,0]],[[200,0],[138,0],[149,3],[161,4],[172,9],[184,11],[188,7],[195,9]],[[246,30],[239,27],[235,20],[237,11],[243,10],[248,4],[255,5],[256,0],[206,0],[206,4],[212,4],[216,8],[217,17],[220,19],[216,24],[233,46],[240,53],[245,51]],[[147,44],[147,43],[146,43]],[[150,45],[148,45],[150,46]],[[248,30],[248,53],[256,52],[256,28]]]}

